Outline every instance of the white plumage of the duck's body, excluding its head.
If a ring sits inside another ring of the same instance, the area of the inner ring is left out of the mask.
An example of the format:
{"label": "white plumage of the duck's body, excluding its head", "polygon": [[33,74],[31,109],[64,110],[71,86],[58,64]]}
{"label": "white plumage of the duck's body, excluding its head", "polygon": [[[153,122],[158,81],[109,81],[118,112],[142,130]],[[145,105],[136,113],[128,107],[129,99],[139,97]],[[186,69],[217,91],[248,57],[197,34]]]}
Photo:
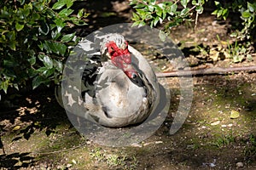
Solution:
{"label": "white plumage of the duck's body, excluding its head", "polygon": [[[83,42],[79,43],[80,47],[86,46]],[[128,50],[131,53],[131,65],[136,68],[138,77],[127,77],[110,59],[102,62],[92,87],[95,94],[85,92],[83,96],[83,117],[86,119],[106,127],[125,127],[143,122],[159,105],[160,89],[154,71],[135,48],[128,46]],[[86,84],[84,86],[88,88]]]}

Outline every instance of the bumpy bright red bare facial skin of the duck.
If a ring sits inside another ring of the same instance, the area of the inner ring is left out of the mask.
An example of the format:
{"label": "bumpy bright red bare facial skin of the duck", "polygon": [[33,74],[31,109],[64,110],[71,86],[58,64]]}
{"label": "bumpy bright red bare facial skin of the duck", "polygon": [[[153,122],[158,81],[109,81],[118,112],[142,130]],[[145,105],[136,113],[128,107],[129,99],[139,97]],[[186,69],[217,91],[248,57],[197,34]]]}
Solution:
{"label": "bumpy bright red bare facial skin of the duck", "polygon": [[111,56],[113,65],[123,70],[127,77],[137,77],[137,71],[131,65],[131,53],[128,50],[128,42],[125,42],[125,49],[119,48],[115,42],[111,41],[106,44],[108,54]]}

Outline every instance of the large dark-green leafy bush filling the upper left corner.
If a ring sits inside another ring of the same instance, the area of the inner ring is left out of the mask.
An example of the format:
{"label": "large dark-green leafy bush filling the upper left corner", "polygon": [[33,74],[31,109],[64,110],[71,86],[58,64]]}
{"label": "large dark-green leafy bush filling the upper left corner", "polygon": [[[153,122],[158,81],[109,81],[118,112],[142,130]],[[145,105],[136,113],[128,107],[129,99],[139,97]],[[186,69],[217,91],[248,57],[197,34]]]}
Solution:
{"label": "large dark-green leafy bush filling the upper left corner", "polygon": [[59,82],[62,61],[79,38],[70,28],[85,25],[84,9],[74,14],[74,0],[0,2],[0,90]]}

